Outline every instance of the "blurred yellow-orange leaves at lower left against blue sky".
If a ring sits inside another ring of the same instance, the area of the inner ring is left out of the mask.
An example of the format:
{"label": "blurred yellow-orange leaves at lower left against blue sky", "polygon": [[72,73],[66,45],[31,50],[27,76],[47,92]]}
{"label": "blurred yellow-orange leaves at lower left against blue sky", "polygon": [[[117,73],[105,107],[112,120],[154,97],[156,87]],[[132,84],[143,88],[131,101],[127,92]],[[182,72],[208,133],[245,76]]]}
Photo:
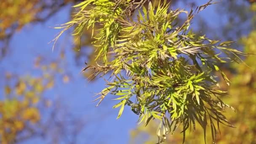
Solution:
{"label": "blurred yellow-orange leaves at lower left against blue sky", "polygon": [[[63,60],[63,59],[62,59]],[[32,138],[42,133],[46,135],[48,126],[61,113],[51,107],[52,101],[45,98],[45,93],[54,87],[56,75],[63,71],[59,62],[44,64],[42,57],[37,57],[35,67],[41,75],[20,76],[6,72],[4,85],[5,94],[0,101],[0,143],[13,144]],[[63,72],[62,72],[63,73]],[[62,75],[63,82],[69,81],[68,75]],[[51,112],[53,110],[54,113]],[[42,118],[43,112],[50,115],[49,123]],[[64,122],[64,120],[62,120]],[[51,126],[53,130],[56,126]],[[57,136],[57,133],[55,133]]]}

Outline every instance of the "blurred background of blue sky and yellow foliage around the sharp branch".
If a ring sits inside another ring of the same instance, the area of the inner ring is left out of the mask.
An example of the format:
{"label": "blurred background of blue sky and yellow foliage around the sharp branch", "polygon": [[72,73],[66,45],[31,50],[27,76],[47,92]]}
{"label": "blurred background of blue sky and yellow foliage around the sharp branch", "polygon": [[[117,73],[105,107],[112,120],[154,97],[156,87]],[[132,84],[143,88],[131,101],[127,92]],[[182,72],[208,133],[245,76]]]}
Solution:
{"label": "blurred background of blue sky and yellow foliage around the sharp branch", "polygon": [[[72,19],[72,5],[82,0],[0,0],[0,143],[2,144],[155,144],[156,126],[137,125],[128,107],[116,120],[111,96],[99,107],[92,102],[104,80],[88,81],[95,64],[91,33],[79,43],[72,31],[52,49],[53,29]],[[190,10],[207,0],[171,0],[171,8]],[[216,40],[234,40],[234,48],[256,54],[255,0],[220,0],[196,16],[192,29]],[[182,17],[180,17],[182,21]],[[81,48],[79,50],[79,48]],[[218,144],[256,144],[256,56],[245,64],[221,65],[232,84],[220,80],[223,97],[236,112],[227,116],[236,128],[221,126]],[[210,128],[209,128],[210,129]],[[186,144],[203,144],[203,132],[191,131]],[[211,143],[211,134],[206,136]],[[182,134],[168,136],[167,144],[182,143]]]}

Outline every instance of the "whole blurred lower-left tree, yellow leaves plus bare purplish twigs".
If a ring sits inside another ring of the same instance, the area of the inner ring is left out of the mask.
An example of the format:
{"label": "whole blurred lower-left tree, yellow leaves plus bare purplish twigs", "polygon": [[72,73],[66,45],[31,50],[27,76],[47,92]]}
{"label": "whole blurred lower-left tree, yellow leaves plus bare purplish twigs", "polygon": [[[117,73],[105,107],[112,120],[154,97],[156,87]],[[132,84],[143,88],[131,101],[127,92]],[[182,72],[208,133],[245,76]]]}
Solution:
{"label": "whole blurred lower-left tree, yellow leaves plus bare purplish twigs", "polygon": [[63,59],[62,55],[56,61],[45,63],[38,56],[34,67],[39,75],[17,75],[6,71],[5,76],[1,76],[5,82],[0,101],[1,144],[20,143],[35,137],[46,137],[51,143],[75,142],[76,133],[83,128],[84,121],[72,117],[58,99],[45,96],[47,91],[56,88],[56,77],[61,77],[62,83],[69,83],[70,75],[61,68]]}

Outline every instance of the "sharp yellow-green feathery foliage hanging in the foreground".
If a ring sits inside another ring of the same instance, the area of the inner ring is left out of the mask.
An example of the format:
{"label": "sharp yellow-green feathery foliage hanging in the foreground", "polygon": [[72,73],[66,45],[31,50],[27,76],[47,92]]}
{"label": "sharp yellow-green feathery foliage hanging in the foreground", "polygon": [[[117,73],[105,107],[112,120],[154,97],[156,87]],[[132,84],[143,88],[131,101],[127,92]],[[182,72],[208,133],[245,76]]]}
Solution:
{"label": "sharp yellow-green feathery foliage hanging in the foreground", "polygon": [[[205,135],[208,122],[216,141],[220,123],[232,127],[224,109],[233,108],[221,101],[226,92],[219,90],[214,73],[219,72],[229,85],[218,64],[243,63],[239,56],[247,54],[231,48],[231,41],[210,40],[189,29],[194,16],[211,4],[185,11],[172,10],[165,0],[86,0],[74,6],[79,10],[72,21],[56,27],[63,30],[54,40],[73,26],[73,35],[81,36],[90,28],[92,35],[97,32],[92,45],[97,47],[96,59],[102,62],[83,69],[94,70],[89,78],[106,81],[97,106],[111,94],[119,101],[113,106],[120,108],[117,118],[129,106],[139,115],[139,123],[159,120],[159,143],[178,125],[182,126],[183,141],[186,131],[189,127],[195,130],[196,123]],[[86,9],[88,6],[91,8]],[[187,19],[177,23],[182,13]],[[101,28],[96,29],[96,24]]]}

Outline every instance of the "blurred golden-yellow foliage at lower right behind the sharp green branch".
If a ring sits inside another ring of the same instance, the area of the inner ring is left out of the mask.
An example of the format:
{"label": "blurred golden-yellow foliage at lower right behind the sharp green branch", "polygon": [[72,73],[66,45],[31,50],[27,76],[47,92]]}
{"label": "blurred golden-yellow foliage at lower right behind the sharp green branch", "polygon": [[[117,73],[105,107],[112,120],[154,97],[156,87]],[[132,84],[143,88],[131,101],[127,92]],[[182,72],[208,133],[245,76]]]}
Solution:
{"label": "blurred golden-yellow foliage at lower right behind the sharp green branch", "polygon": [[[248,37],[243,37],[242,42],[245,44],[245,52],[256,53],[256,45],[254,41],[256,40],[256,32],[253,31]],[[254,56],[248,56],[245,59],[246,64],[250,67],[243,66],[240,64],[233,64],[232,71],[237,73],[229,73],[229,77],[232,77],[232,84],[228,89],[229,97],[223,97],[224,101],[227,101],[230,105],[235,107],[235,113],[227,113],[227,118],[230,123],[235,125],[235,129],[224,128],[221,126],[221,133],[216,137],[216,143],[218,144],[254,144],[256,136],[256,81],[255,81],[255,69],[256,65],[254,62]],[[228,72],[228,70],[226,70]],[[224,83],[220,81],[221,88]],[[249,110],[248,110],[249,109]],[[140,125],[136,130],[131,131],[131,143],[133,141],[142,140],[143,135],[148,135],[148,139],[143,139],[146,144],[154,144],[157,139],[155,139],[155,130],[157,129],[157,123],[151,122],[149,126],[144,127]],[[182,131],[182,129],[179,129]],[[208,129],[208,132],[211,132]],[[190,132],[187,135],[189,141],[186,144],[203,143],[203,131],[196,130]],[[175,133],[173,136],[168,136],[166,144],[170,143],[181,143],[182,138],[179,133]],[[211,136],[206,136],[206,141],[211,141]]]}

